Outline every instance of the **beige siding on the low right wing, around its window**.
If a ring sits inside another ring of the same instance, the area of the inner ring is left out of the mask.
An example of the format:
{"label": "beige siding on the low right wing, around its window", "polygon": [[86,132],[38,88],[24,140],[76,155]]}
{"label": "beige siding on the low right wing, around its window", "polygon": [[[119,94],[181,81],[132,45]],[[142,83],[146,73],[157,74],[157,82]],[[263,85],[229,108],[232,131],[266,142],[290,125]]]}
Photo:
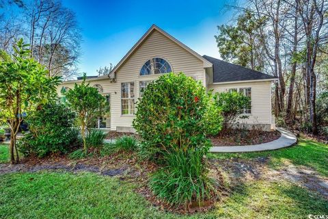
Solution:
{"label": "beige siding on the low right wing, around its window", "polygon": [[229,88],[251,88],[251,115],[246,123],[272,124],[271,81],[210,84],[208,90],[225,92]]}

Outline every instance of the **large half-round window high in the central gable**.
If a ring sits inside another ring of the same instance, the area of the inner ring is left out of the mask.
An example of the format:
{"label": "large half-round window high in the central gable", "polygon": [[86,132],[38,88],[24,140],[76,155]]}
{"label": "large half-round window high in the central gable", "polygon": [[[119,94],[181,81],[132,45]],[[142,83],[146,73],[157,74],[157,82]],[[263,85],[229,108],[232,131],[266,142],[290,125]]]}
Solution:
{"label": "large half-round window high in the central gable", "polygon": [[154,57],[143,64],[140,75],[154,75],[172,72],[168,62],[160,57]]}

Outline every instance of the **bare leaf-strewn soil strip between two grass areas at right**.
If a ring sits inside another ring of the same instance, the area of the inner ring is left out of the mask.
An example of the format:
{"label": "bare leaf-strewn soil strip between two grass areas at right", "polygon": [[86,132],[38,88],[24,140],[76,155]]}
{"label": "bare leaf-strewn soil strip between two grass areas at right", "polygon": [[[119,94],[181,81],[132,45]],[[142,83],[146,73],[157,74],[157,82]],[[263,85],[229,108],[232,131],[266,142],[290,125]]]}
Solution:
{"label": "bare leaf-strewn soil strip between two grass areas at right", "polygon": [[328,200],[328,178],[321,177],[318,172],[305,166],[295,166],[286,162],[284,168],[273,170],[267,165],[270,157],[249,160],[241,158],[211,159],[210,161],[228,174],[230,190],[251,180],[289,181],[316,192]]}

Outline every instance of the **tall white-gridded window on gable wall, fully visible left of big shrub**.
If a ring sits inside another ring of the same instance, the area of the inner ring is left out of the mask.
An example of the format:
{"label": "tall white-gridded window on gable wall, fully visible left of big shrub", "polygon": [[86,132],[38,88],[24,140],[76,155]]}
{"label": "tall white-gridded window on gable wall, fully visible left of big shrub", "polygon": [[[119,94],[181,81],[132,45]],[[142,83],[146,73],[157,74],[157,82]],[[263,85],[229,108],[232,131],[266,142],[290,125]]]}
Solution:
{"label": "tall white-gridded window on gable wall, fully visible left of big shrub", "polygon": [[135,83],[121,83],[122,115],[135,114]]}

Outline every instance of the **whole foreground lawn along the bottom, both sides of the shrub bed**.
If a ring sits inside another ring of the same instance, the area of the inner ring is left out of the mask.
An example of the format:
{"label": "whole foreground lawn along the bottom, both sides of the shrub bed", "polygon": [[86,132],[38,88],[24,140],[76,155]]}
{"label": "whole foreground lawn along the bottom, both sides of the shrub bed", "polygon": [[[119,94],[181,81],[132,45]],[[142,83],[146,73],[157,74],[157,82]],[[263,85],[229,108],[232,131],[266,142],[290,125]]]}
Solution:
{"label": "whole foreground lawn along the bottom, both sides of the shrub bed", "polygon": [[93,173],[16,173],[0,177],[0,218],[306,218],[328,202],[290,183],[249,182],[206,214],[152,207],[135,183]]}

